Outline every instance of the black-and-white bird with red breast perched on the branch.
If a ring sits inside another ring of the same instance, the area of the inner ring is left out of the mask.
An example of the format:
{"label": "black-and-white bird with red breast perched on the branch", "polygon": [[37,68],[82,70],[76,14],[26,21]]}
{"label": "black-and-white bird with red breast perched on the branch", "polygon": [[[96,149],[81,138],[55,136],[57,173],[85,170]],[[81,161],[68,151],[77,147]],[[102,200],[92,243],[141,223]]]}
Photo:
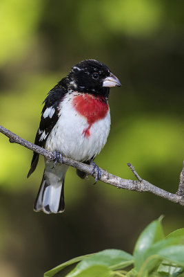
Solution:
{"label": "black-and-white bird with red breast perched on the branch", "polygon": [[[54,161],[45,159],[41,186],[34,211],[62,213],[65,210],[64,181],[68,166],[63,157],[92,164],[96,179],[101,176],[94,163],[110,132],[108,96],[111,87],[121,82],[108,66],[97,60],[83,60],[48,92],[43,101],[41,121],[34,144],[54,152]],[[61,163],[58,163],[60,161]],[[39,154],[34,152],[28,177],[37,168]],[[85,178],[85,172],[76,170]]]}

